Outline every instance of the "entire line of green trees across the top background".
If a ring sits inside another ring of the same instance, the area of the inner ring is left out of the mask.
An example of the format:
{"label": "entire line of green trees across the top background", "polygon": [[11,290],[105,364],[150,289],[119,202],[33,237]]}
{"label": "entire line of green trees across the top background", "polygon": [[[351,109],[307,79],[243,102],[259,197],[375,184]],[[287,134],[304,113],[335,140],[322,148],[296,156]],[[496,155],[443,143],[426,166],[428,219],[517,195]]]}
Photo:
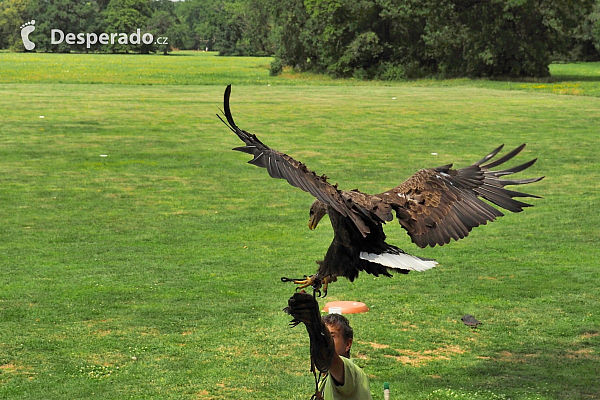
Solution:
{"label": "entire line of green trees across the top background", "polygon": [[[36,51],[214,50],[274,56],[273,74],[543,77],[552,61],[600,59],[600,0],[0,0],[0,48],[22,51],[30,19]],[[50,29],[168,44],[52,45]]]}

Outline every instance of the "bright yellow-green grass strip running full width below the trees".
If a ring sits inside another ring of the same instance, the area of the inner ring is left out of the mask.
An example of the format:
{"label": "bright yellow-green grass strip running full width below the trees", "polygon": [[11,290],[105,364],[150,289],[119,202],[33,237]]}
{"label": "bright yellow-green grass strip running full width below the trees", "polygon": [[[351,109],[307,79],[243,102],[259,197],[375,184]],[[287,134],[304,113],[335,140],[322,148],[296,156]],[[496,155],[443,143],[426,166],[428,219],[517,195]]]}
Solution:
{"label": "bright yellow-green grass strip running full width below the trees", "polygon": [[[396,86],[395,82],[333,79],[287,69],[269,75],[270,57],[219,57],[213,52],[162,55],[44,54],[0,52],[0,83],[90,83],[125,85],[334,85]],[[531,82],[423,79],[416,87],[482,87],[600,97],[600,63],[552,64],[551,78]]]}

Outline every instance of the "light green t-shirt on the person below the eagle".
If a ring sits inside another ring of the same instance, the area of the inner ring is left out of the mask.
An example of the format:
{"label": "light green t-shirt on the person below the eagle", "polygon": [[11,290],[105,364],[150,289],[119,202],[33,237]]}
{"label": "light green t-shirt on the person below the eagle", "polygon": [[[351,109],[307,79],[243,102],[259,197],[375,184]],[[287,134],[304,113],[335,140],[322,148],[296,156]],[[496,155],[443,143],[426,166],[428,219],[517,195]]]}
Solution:
{"label": "light green t-shirt on the person below the eagle", "polygon": [[372,400],[367,375],[356,364],[340,357],[344,362],[344,384],[336,385],[333,377],[328,376],[321,388],[325,400]]}

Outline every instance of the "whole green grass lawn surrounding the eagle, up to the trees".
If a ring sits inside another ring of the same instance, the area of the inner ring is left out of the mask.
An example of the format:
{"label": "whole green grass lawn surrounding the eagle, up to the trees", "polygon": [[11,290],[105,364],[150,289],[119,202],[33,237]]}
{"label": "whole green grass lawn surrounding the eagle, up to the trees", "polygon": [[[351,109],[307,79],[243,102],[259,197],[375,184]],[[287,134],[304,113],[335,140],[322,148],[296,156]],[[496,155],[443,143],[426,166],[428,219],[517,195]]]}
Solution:
{"label": "whole green grass lawn surrounding the eagle, up to the trees", "polygon": [[[0,53],[0,398],[310,397],[279,278],[313,272],[331,227],[308,231],[311,196],[230,150],[232,82],[242,128],[345,189],[527,142],[535,207],[434,249],[394,221],[391,243],[440,266],[326,300],[371,309],[350,319],[375,399],[386,381],[394,400],[600,399],[600,65],[392,84],[268,62]],[[533,87],[560,82],[583,92]]]}

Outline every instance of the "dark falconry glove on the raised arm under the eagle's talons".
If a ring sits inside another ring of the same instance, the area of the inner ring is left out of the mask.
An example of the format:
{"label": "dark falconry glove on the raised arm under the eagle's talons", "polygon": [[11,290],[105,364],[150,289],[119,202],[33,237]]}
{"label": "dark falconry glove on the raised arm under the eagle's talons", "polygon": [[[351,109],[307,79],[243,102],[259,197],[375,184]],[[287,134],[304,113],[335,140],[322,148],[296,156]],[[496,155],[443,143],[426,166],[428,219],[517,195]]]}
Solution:
{"label": "dark falconry glove on the raised arm under the eagle's talons", "polygon": [[311,369],[316,368],[319,372],[326,373],[331,366],[335,346],[329,329],[321,318],[317,300],[308,293],[294,293],[283,311],[294,317],[290,326],[295,327],[300,323],[306,326],[310,338]]}

